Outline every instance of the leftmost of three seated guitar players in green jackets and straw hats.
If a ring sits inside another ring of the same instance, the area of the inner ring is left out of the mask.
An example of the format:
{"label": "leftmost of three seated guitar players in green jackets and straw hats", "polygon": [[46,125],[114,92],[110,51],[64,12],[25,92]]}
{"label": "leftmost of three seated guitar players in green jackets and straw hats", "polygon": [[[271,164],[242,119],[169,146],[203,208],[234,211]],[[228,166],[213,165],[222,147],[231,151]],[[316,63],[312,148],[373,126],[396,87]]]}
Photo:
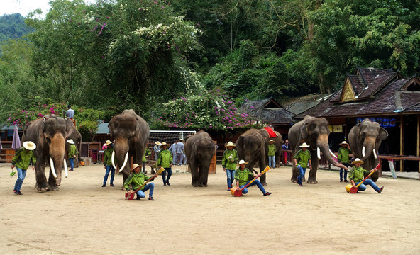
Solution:
{"label": "leftmost of three seated guitar players in green jackets and straw hats", "polygon": [[[134,163],[133,166],[131,167],[131,174],[127,177],[126,181],[124,182],[124,188],[126,188],[126,191],[128,193],[131,193],[133,191],[131,191],[130,189],[130,184],[131,184],[131,188],[133,188],[133,190],[135,191],[138,187],[142,186],[143,183],[145,183],[145,181],[153,181],[153,179],[151,179],[151,177],[143,174],[140,171],[140,165]],[[143,188],[141,188],[140,190],[137,191],[137,198],[136,200],[140,200],[140,198],[145,198],[145,191],[149,191],[149,200],[155,200],[153,199],[153,190],[155,189],[155,183],[148,183],[146,184]]]}

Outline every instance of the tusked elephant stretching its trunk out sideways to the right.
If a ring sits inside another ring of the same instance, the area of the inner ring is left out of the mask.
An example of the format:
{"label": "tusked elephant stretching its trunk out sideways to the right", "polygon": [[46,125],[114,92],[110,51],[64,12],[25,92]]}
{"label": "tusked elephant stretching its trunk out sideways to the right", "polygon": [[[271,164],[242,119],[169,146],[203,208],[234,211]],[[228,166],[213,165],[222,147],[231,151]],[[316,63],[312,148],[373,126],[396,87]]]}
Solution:
{"label": "tusked elephant stretching its trunk out sideways to the right", "polygon": [[[309,152],[311,152],[312,169],[309,171],[307,183],[318,183],[318,181],[316,181],[316,171],[318,171],[321,152],[328,162],[334,166],[347,169],[346,166],[343,166],[333,159],[336,155],[334,155],[328,147],[328,135],[330,135],[328,121],[325,118],[315,118],[309,115],[306,115],[303,120],[295,123],[292,128],[289,129],[289,145],[290,149],[292,149],[292,159],[294,158],[294,154],[300,149],[299,145],[303,142],[306,142],[306,144],[310,146],[308,149]],[[290,180],[293,183],[296,183],[297,176],[299,176],[299,169],[297,169],[294,160],[292,160],[292,178]]]}

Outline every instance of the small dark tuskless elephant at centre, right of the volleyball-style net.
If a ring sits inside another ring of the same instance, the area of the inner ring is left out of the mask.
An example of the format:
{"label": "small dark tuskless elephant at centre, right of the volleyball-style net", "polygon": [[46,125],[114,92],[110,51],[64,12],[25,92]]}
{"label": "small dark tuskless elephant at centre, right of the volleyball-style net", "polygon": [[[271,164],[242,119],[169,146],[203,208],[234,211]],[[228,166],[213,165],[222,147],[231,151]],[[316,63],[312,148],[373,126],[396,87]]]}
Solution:
{"label": "small dark tuskless elephant at centre, right of the volleyball-style net", "polygon": [[214,153],[216,153],[216,145],[207,132],[201,130],[197,134],[187,137],[185,155],[191,170],[192,186],[207,186],[210,162]]}

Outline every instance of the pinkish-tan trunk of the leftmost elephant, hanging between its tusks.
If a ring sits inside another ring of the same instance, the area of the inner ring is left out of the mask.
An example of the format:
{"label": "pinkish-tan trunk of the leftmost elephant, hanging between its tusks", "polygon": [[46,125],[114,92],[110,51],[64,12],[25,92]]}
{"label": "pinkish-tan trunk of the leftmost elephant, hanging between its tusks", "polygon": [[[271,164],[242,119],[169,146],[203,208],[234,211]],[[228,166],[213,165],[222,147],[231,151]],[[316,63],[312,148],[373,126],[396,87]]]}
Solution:
{"label": "pinkish-tan trunk of the leftmost elephant, hanging between its tusks", "polygon": [[65,164],[65,138],[61,134],[55,134],[50,142],[50,169],[55,177],[56,185],[61,183],[61,167]]}

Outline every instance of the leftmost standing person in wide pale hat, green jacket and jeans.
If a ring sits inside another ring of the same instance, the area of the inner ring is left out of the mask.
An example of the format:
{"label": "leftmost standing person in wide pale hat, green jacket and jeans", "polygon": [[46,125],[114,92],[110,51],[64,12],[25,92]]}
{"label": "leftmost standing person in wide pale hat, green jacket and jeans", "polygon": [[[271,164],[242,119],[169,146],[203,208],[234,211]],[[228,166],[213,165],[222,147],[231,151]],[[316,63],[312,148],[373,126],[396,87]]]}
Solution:
{"label": "leftmost standing person in wide pale hat, green jacket and jeans", "polygon": [[36,157],[33,150],[36,149],[35,143],[31,141],[23,142],[23,147],[18,149],[15,157],[11,160],[11,169],[16,166],[18,171],[18,179],[16,180],[13,193],[16,195],[22,195],[21,188],[23,180],[26,176],[26,170],[28,170],[29,164],[32,162],[32,170],[35,170]]}

